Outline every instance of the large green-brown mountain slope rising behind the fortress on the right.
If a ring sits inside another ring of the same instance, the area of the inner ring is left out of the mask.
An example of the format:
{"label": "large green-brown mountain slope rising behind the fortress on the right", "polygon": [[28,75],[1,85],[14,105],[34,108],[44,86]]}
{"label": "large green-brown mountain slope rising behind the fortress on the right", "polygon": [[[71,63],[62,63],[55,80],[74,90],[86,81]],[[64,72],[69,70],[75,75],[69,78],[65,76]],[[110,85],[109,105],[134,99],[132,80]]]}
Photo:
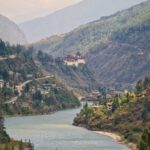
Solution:
{"label": "large green-brown mountain slope rising behind the fortress on the right", "polygon": [[106,84],[130,84],[150,73],[150,1],[34,44],[58,57],[81,52]]}

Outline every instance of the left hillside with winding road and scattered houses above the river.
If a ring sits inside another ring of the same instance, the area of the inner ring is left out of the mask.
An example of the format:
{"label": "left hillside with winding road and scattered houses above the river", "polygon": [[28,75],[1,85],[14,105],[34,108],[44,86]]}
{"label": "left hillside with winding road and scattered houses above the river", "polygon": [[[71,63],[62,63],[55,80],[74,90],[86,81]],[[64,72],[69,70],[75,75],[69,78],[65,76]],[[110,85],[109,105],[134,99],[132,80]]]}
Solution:
{"label": "left hillside with winding road and scattered houses above the river", "polygon": [[54,72],[45,74],[34,62],[33,48],[0,40],[0,111],[3,115],[51,113],[79,106],[78,99]]}

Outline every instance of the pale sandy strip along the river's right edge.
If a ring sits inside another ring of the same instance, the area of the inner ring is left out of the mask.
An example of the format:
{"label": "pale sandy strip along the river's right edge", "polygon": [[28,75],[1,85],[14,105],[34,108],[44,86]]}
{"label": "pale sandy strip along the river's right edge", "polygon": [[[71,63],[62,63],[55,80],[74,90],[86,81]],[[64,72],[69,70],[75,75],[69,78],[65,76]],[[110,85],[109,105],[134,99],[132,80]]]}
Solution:
{"label": "pale sandy strip along the river's right edge", "polygon": [[111,132],[105,132],[105,131],[93,131],[93,132],[99,135],[108,136],[120,144],[125,144],[130,148],[130,150],[137,150],[136,144],[129,143],[127,140],[125,140],[121,135],[117,133],[111,133]]}

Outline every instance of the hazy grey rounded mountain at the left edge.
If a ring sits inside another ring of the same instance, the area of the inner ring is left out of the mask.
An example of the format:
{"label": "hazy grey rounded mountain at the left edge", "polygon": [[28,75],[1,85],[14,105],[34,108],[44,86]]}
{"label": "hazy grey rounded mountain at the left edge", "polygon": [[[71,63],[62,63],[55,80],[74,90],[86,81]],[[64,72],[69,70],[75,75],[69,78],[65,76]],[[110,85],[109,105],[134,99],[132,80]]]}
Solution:
{"label": "hazy grey rounded mountain at the left edge", "polygon": [[0,38],[10,44],[26,44],[27,40],[19,27],[8,18],[0,15]]}

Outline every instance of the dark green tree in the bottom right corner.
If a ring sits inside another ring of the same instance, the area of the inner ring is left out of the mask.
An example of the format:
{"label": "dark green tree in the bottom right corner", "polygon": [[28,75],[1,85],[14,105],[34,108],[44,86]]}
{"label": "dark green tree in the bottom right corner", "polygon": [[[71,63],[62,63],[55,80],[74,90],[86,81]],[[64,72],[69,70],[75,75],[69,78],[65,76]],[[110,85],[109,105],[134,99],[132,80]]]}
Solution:
{"label": "dark green tree in the bottom right corner", "polygon": [[139,150],[150,150],[150,126],[143,131],[138,148]]}

